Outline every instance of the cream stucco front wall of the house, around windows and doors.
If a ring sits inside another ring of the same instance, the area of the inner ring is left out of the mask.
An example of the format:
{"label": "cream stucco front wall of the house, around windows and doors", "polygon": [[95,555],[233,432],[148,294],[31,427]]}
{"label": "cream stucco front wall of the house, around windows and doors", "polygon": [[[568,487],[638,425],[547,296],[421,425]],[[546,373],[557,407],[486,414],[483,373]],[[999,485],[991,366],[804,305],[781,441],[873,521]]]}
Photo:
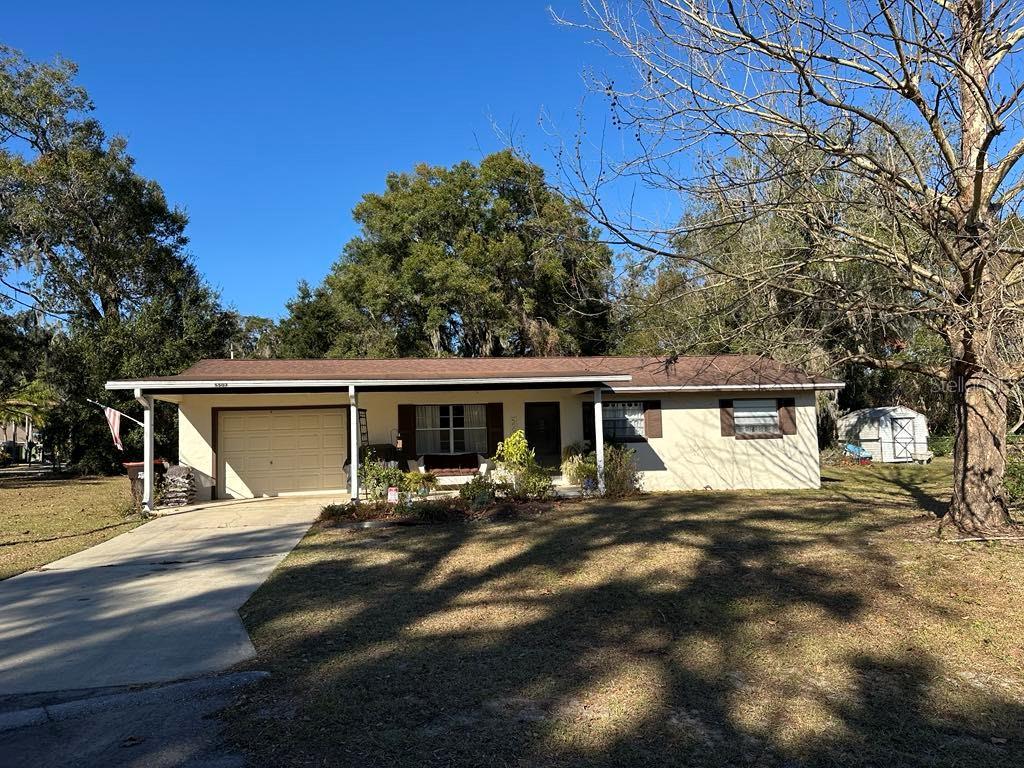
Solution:
{"label": "cream stucco front wall of the house, around windows and doors", "polygon": [[[787,393],[768,393],[787,394]],[[818,487],[818,444],[813,392],[798,392],[797,434],[777,439],[742,440],[721,435],[720,398],[749,396],[741,392],[699,394],[644,393],[609,399],[660,399],[663,437],[631,443],[636,450],[646,490],[806,488]],[[766,395],[762,395],[766,396]],[[573,389],[523,389],[459,392],[366,392],[359,408],[367,410],[373,443],[393,442],[398,429],[398,404],[498,402],[504,404],[505,434],[523,426],[526,402],[560,404],[562,445],[583,438],[581,401],[589,394]],[[178,399],[178,454],[198,475],[201,499],[210,497],[213,483],[214,408],[265,408],[347,404],[342,393],[328,394],[211,394],[182,395]],[[347,442],[346,442],[347,444]]]}

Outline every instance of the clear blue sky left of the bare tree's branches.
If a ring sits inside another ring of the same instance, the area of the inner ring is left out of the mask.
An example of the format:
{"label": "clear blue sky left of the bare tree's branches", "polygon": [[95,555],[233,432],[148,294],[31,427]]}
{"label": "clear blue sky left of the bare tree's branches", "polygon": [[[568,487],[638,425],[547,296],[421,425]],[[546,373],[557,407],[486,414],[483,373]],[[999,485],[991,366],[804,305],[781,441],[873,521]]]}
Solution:
{"label": "clear blue sky left of the bare tree's branches", "polygon": [[187,211],[224,301],[279,316],[388,171],[479,160],[504,145],[496,125],[552,168],[540,115],[571,138],[582,72],[608,60],[549,4],[53,0],[5,7],[2,41],[77,61],[108,131]]}

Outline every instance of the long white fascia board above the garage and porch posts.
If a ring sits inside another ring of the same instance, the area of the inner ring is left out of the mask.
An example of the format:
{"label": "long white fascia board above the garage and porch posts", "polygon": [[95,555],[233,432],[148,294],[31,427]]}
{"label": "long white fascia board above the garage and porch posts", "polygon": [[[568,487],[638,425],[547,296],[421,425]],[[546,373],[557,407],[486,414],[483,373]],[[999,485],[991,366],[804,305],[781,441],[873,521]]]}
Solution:
{"label": "long white fascia board above the garage and porch posts", "polygon": [[595,384],[609,381],[632,381],[628,374],[613,376],[531,376],[500,379],[258,379],[258,380],[217,380],[203,381],[161,381],[159,379],[126,379],[106,382],[106,389],[261,389],[280,387],[302,389],[304,387],[444,387],[472,384]]}

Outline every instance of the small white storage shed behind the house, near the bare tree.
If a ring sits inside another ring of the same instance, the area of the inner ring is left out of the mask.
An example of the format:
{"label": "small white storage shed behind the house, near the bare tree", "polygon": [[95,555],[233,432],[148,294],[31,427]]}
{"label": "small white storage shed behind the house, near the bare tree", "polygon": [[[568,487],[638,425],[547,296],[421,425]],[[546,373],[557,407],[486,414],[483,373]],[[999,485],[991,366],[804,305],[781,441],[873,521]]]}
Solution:
{"label": "small white storage shed behind the house, near the bare tree", "polygon": [[903,406],[854,411],[837,426],[840,443],[860,445],[877,462],[909,462],[928,452],[928,420]]}

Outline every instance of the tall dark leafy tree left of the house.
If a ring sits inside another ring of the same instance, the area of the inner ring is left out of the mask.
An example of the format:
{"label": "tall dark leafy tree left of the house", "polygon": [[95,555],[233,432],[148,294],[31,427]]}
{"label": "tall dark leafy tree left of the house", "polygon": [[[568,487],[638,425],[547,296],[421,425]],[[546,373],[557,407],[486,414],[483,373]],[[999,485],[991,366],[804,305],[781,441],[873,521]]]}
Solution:
{"label": "tall dark leafy tree left of the house", "polygon": [[[50,445],[106,471],[124,457],[87,398],[137,413],[103,382],[224,354],[238,318],[185,252],[184,213],[91,117],[75,76],[68,61],[0,47],[0,296],[48,323],[46,349],[28,368],[52,392]],[[173,412],[158,409],[157,426],[159,450],[173,458]],[[139,435],[127,438],[136,453]]]}

